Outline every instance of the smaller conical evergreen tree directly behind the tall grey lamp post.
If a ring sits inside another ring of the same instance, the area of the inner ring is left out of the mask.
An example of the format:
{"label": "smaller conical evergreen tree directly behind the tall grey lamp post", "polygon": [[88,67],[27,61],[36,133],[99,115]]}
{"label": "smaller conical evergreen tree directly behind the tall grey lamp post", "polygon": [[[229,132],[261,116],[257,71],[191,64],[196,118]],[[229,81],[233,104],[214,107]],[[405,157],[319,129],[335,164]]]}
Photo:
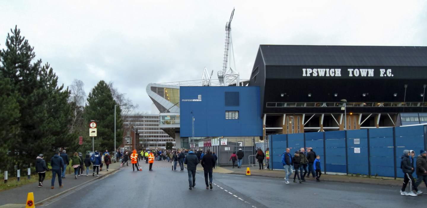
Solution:
{"label": "smaller conical evergreen tree directly behind the tall grey lamp post", "polygon": [[[105,81],[101,80],[88,95],[88,104],[85,107],[85,125],[94,120],[97,123],[96,140],[100,143],[98,151],[114,152],[114,101],[111,90]],[[116,146],[118,147],[123,136],[123,121],[120,119],[121,110],[116,108]],[[88,130],[89,131],[89,128]]]}

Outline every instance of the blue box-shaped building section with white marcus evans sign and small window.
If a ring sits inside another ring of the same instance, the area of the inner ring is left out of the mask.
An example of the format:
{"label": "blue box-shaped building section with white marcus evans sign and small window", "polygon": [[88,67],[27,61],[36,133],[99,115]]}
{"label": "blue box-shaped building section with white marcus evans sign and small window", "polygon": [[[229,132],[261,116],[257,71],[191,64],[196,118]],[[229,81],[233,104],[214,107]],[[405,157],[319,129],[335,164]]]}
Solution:
{"label": "blue box-shaped building section with white marcus evans sign and small window", "polygon": [[181,86],[181,137],[260,137],[259,86]]}

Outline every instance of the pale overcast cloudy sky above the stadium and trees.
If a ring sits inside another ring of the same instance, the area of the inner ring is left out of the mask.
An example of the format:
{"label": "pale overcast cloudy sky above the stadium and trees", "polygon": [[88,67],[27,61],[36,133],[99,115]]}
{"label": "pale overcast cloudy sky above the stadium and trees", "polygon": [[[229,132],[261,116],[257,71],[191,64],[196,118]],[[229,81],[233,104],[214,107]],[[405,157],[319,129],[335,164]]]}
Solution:
{"label": "pale overcast cloudy sky above the stadium and trees", "polygon": [[222,69],[231,24],[236,70],[248,79],[257,49],[275,45],[427,45],[426,1],[1,1],[0,48],[10,28],[49,62],[59,83],[113,81],[150,111],[148,83]]}

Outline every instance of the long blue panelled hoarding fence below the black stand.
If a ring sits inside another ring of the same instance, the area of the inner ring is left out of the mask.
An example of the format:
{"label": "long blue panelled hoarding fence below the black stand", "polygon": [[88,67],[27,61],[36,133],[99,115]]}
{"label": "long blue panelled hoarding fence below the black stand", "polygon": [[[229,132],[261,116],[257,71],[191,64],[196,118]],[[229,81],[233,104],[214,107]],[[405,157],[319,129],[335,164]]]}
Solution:
{"label": "long blue panelled hoarding fence below the black stand", "polygon": [[322,172],[403,178],[403,151],[415,151],[415,164],[418,152],[427,149],[426,134],[427,125],[270,135],[270,168],[284,169],[287,148],[293,155],[311,147],[321,157]]}

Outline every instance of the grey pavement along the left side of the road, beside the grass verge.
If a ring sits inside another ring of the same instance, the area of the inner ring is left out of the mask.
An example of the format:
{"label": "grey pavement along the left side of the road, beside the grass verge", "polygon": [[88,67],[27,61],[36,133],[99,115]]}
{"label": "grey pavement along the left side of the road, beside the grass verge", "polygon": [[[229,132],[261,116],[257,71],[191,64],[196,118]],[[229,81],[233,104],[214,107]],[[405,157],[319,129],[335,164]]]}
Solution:
{"label": "grey pavement along the left side of the road, beside the grass verge", "polygon": [[[130,163],[130,162],[129,162]],[[5,190],[0,192],[0,208],[20,208],[25,207],[26,197],[28,193],[34,193],[34,201],[37,205],[44,199],[53,197],[58,193],[62,193],[71,188],[78,187],[79,185],[88,183],[90,181],[102,178],[107,174],[111,174],[120,168],[120,163],[110,164],[108,171],[106,171],[106,165],[104,164],[102,171],[99,172],[99,176],[92,176],[92,169],[89,169],[89,176],[77,176],[77,179],[74,178],[74,171],[71,171],[71,174],[66,174],[65,178],[62,178],[63,187],[60,188],[58,184],[58,177],[55,179],[55,188],[51,189],[51,179],[43,181],[43,187],[38,187],[38,182],[32,184],[26,184],[21,187],[16,187],[14,189]],[[68,170],[67,170],[68,173]],[[86,169],[83,170],[83,173],[86,174]],[[38,175],[33,175],[32,177],[37,177]]]}

